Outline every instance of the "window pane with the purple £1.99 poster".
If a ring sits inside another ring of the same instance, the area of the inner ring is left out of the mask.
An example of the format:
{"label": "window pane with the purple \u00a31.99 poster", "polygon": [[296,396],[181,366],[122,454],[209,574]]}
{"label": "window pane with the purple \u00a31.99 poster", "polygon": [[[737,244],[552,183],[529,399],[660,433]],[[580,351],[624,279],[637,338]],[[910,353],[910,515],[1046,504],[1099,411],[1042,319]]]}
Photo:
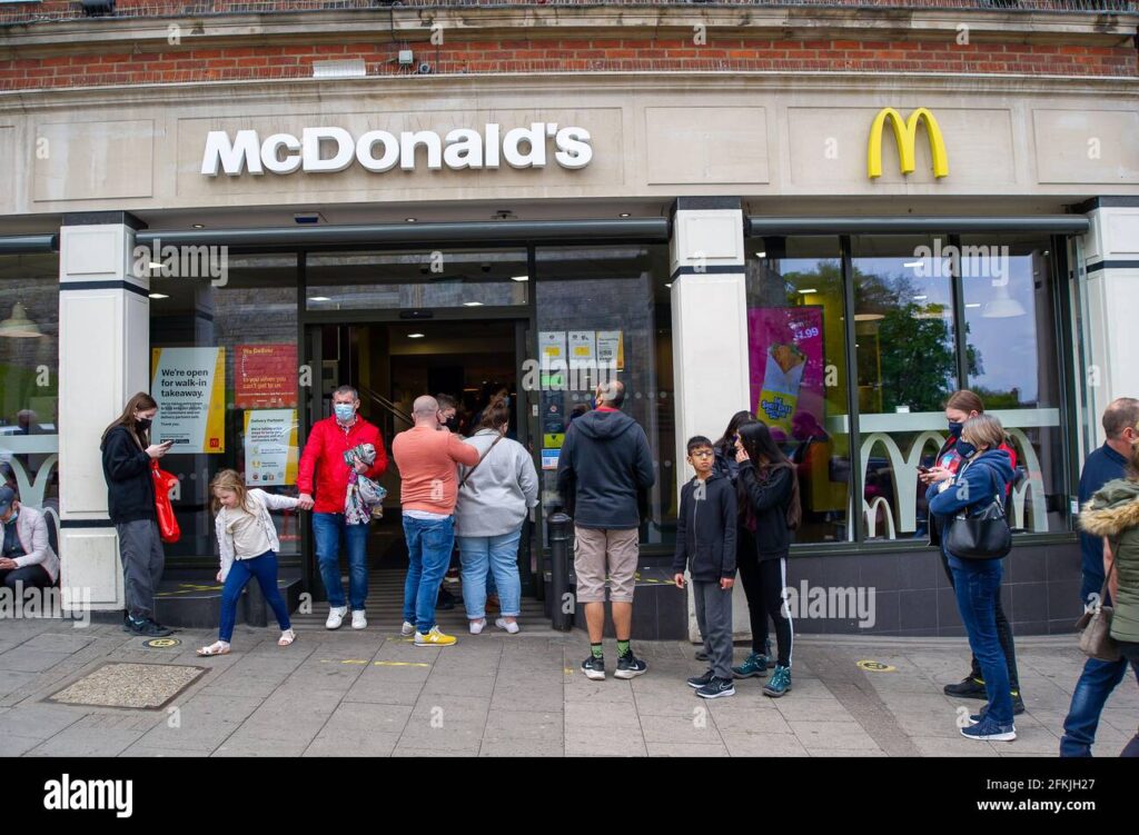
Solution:
{"label": "window pane with the purple \u00a31.99 poster", "polygon": [[796,541],[852,539],[838,238],[756,238],[747,254],[748,408],[796,465],[803,504]]}

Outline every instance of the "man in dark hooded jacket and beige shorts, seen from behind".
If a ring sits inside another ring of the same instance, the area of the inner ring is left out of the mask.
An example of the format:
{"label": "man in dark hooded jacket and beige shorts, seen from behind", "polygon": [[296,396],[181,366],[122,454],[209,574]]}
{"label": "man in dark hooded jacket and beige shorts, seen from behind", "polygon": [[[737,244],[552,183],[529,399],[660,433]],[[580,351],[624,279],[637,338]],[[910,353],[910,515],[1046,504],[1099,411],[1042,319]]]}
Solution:
{"label": "man in dark hooded jacket and beige shorts, seen from behind", "polygon": [[638,494],[653,486],[653,453],[645,429],[621,411],[625,387],[620,382],[597,387],[597,408],[577,418],[566,432],[558,457],[558,491],[574,515],[574,571],[577,603],[585,606],[590,656],[581,669],[591,679],[605,679],[601,633],[605,628],[605,578],[617,635],[618,679],[648,670],[633,655],[633,578],[639,554]]}

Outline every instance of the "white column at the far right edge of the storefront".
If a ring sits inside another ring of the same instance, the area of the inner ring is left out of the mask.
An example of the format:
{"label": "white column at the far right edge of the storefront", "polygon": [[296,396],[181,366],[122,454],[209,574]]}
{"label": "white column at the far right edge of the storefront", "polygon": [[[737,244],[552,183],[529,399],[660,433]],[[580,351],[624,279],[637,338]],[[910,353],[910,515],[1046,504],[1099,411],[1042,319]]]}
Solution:
{"label": "white column at the far right edge of the storefront", "polygon": [[[1116,398],[1139,398],[1139,198],[1100,197],[1085,204],[1091,229],[1083,237],[1083,301],[1090,368],[1088,420],[1095,445],[1104,443],[1100,416]],[[1089,450],[1090,451],[1090,450]]]}

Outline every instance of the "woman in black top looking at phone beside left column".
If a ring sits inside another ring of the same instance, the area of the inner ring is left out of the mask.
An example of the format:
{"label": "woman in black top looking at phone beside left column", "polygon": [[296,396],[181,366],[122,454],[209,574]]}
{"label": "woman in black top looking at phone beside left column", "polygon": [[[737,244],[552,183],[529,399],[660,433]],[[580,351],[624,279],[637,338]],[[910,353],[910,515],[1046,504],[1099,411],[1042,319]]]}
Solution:
{"label": "woman in black top looking at phone beside left column", "polygon": [[165,554],[158,533],[150,461],[170,451],[173,441],[150,443],[150,423],[158,403],[139,392],[103,433],[103,477],[107,482],[107,511],[118,533],[126,596],[123,629],[132,635],[161,638],[173,630],[154,619],[154,592],[162,580]]}

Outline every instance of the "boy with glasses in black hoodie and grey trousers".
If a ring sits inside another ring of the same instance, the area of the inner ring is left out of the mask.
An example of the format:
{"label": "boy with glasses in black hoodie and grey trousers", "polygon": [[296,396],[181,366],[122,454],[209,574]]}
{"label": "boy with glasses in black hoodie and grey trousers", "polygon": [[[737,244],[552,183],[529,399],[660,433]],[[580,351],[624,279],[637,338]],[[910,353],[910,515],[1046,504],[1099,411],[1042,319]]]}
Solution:
{"label": "boy with glasses in black hoodie and grey trousers", "polygon": [[731,587],[736,583],[736,489],[713,472],[715,452],[703,435],[688,441],[688,462],[696,477],[680,491],[673,581],[685,588],[685,566],[693,578],[696,623],[712,666],[688,679],[700,698],[735,696],[731,677]]}

